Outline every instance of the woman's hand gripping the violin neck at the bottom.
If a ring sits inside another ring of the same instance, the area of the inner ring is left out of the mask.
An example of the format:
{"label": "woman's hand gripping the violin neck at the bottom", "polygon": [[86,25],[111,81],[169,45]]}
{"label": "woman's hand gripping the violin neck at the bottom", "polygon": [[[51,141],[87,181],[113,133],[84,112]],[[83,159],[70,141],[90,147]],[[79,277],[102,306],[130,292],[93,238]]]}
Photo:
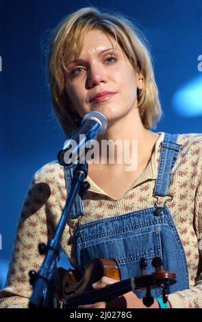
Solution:
{"label": "woman's hand gripping the violin neck at the bottom", "polygon": [[[99,282],[92,284],[95,290],[99,290],[107,285],[118,282],[110,277],[103,276]],[[98,302],[94,304],[88,304],[86,306],[78,306],[78,308],[147,308],[144,306],[142,299],[139,299],[134,292],[130,291],[121,295],[120,297],[108,302]],[[154,300],[154,303],[150,308],[160,308],[158,302]]]}

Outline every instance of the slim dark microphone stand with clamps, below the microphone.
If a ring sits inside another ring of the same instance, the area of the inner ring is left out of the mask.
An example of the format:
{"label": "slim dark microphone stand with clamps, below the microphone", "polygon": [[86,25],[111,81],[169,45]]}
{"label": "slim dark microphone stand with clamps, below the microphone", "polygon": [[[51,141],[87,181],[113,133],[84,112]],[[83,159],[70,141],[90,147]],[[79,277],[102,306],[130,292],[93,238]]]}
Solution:
{"label": "slim dark microphone stand with clamps, below the microphone", "polygon": [[[30,284],[33,285],[33,292],[29,299],[29,308],[59,308],[58,297],[58,272],[57,260],[60,256],[60,240],[68,220],[68,214],[73,208],[73,203],[79,191],[86,191],[90,187],[88,182],[84,182],[88,175],[88,163],[77,163],[73,173],[71,191],[66,200],[62,216],[55,231],[55,236],[47,245],[40,243],[38,250],[40,254],[46,255],[42,267],[36,271],[29,271]],[[46,290],[45,290],[46,289]],[[46,300],[44,301],[46,293]]]}

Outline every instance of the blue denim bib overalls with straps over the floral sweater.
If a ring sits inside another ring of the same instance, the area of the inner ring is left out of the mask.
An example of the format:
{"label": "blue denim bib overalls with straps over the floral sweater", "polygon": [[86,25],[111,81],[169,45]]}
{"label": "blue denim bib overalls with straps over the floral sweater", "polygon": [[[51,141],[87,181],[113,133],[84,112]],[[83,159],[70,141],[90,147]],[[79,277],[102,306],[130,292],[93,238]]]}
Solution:
{"label": "blue denim bib overalls with straps over the floral sweater", "polygon": [[[153,195],[165,197],[173,168],[182,146],[177,145],[178,134],[165,134],[161,143],[160,163]],[[71,188],[71,178],[75,165],[66,167],[66,186]],[[77,195],[75,206],[69,216],[75,219],[84,213],[83,201]],[[147,258],[146,273],[153,273],[153,257],[159,256],[164,269],[177,274],[177,283],[170,286],[168,293],[189,288],[186,254],[175,227],[173,216],[166,206],[113,216],[112,218],[92,221],[79,225],[74,234],[77,268],[84,273],[84,267],[93,258],[114,258],[121,271],[121,280],[141,275],[140,259]],[[137,290],[136,295],[143,297],[145,291]],[[153,297],[160,296],[160,288],[151,290]]]}

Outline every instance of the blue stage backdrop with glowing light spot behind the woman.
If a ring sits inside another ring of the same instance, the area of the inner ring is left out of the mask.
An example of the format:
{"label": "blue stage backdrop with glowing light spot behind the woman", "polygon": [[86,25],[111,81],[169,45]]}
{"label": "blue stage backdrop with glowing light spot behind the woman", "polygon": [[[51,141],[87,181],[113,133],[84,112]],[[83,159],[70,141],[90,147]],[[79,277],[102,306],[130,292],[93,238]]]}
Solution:
{"label": "blue stage backdrop with glowing light spot behind the woman", "polygon": [[149,40],[164,111],[155,131],[202,132],[201,0],[1,0],[0,287],[31,177],[56,159],[65,140],[51,112],[47,34],[66,14],[88,5],[131,17]]}

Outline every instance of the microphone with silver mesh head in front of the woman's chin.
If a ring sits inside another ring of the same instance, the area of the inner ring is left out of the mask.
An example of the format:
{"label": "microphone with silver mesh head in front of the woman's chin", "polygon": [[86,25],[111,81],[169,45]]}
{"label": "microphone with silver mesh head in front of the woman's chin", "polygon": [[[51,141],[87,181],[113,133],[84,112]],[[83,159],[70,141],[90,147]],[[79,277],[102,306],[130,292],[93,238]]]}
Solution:
{"label": "microphone with silver mesh head in front of the woman's chin", "polygon": [[[95,140],[108,128],[108,121],[101,112],[88,112],[81,121],[81,126],[65,141],[58,153],[60,165],[70,165],[85,153],[88,140]],[[70,158],[70,156],[72,156]]]}

